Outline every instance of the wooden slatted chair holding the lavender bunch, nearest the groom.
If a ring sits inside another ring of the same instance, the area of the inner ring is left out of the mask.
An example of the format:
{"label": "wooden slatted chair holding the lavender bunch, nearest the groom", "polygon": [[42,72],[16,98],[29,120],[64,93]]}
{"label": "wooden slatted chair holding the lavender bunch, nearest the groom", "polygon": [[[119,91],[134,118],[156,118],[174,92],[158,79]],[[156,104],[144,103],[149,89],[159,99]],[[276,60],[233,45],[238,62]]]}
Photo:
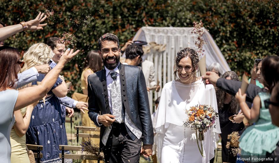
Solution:
{"label": "wooden slatted chair holding the lavender bunch, nearest the groom", "polygon": [[[59,145],[59,149],[62,151],[61,154],[59,154],[59,158],[62,159],[62,163],[64,163],[64,159],[95,160],[98,163],[100,163],[100,161],[103,160],[102,158],[99,158],[98,156],[95,156],[95,155],[86,155],[86,154],[79,153],[78,151],[81,150],[81,146]],[[64,153],[65,150],[66,151],[77,151],[77,154],[65,154]],[[96,150],[99,150],[99,148]]]}

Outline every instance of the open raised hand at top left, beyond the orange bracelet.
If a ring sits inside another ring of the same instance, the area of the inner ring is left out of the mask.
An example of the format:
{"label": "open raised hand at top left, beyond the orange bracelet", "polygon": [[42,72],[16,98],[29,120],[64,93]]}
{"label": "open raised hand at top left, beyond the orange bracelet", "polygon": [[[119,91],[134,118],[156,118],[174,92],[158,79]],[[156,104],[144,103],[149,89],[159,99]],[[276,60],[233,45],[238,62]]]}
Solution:
{"label": "open raised hand at top left, beyond the orange bracelet", "polygon": [[44,16],[44,13],[39,12],[39,15],[35,19],[25,22],[27,29],[31,30],[31,31],[43,29],[43,27],[46,26],[47,23],[45,23],[45,24],[40,24],[40,23],[42,23],[47,18],[47,15],[45,15],[44,17],[43,16]]}

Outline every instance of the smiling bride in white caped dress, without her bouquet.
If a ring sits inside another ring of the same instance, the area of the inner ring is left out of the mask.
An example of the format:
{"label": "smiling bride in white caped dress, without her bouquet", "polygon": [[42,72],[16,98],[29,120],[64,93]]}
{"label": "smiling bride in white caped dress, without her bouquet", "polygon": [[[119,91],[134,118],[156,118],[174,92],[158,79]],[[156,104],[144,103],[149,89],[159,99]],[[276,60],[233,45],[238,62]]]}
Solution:
{"label": "smiling bride in white caped dress, without her bouquet", "polygon": [[[218,134],[221,133],[219,119],[215,127],[204,133],[203,156],[196,142],[196,131],[183,126],[188,119],[186,109],[191,106],[211,105],[218,112],[213,85],[205,88],[201,78],[196,77],[199,56],[195,50],[184,48],[177,53],[174,71],[178,79],[164,85],[156,111],[153,127],[161,163],[207,163],[214,157]],[[200,143],[199,143],[200,144]]]}

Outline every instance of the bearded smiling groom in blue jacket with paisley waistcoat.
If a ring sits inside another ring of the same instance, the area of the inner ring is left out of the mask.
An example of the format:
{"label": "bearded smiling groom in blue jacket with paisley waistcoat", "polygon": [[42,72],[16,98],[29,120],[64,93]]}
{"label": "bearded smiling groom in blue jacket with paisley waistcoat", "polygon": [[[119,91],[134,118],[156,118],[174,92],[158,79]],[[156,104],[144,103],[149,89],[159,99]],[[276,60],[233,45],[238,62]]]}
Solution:
{"label": "bearded smiling groom in blue jacket with paisley waistcoat", "polygon": [[151,156],[153,145],[145,78],[140,67],[119,62],[117,36],[106,33],[98,42],[105,68],[88,76],[88,115],[101,127],[105,162],[139,162],[141,152]]}

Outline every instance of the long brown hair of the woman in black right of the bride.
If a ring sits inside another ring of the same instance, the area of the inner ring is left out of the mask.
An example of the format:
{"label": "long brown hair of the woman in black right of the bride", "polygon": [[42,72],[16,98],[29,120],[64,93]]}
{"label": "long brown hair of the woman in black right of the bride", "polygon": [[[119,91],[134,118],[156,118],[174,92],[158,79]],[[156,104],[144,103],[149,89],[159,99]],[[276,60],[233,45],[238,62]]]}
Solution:
{"label": "long brown hair of the woman in black right of the bride", "polygon": [[[227,71],[221,76],[221,78],[225,78],[225,79],[227,77],[231,77],[231,80],[233,81],[239,81],[238,76],[234,71]],[[216,99],[217,99],[218,110],[220,111],[224,107],[224,99],[225,99],[225,92],[220,88],[216,88]],[[237,109],[237,102],[234,96],[231,96],[231,101],[229,104],[230,105],[228,111],[232,114],[235,114]]]}

